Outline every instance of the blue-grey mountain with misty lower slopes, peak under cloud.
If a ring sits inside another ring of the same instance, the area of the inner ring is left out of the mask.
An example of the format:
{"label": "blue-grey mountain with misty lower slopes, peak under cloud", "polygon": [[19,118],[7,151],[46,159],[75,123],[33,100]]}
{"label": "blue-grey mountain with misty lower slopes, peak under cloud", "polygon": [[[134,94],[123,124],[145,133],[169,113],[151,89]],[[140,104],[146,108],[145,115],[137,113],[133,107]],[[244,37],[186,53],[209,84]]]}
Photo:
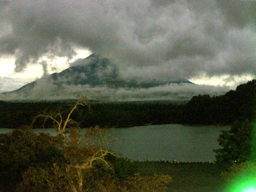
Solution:
{"label": "blue-grey mountain with misty lower slopes, peak under cloud", "polygon": [[[20,98],[33,97],[42,98],[46,92],[50,92],[50,96],[59,96],[65,98],[64,95],[69,94],[67,88],[74,93],[85,92],[88,89],[97,92],[97,88],[153,88],[166,84],[180,84],[192,82],[180,78],[178,80],[140,80],[129,79],[124,80],[119,76],[118,67],[110,62],[108,58],[102,58],[96,54],[92,54],[84,59],[76,60],[69,68],[60,73],[53,73],[41,79],[28,83],[21,88],[2,93],[5,97],[10,95]],[[65,90],[65,91],[63,91]],[[70,92],[70,93],[71,93]]]}

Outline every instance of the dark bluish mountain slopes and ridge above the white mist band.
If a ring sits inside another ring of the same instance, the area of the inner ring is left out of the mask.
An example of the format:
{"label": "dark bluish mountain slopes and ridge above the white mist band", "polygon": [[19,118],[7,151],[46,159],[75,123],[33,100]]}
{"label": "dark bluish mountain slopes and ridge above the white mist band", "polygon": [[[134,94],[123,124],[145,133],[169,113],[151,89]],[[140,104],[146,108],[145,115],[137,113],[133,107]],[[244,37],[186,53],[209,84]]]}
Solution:
{"label": "dark bluish mountain slopes and ridge above the white mist band", "polygon": [[70,86],[107,86],[110,88],[152,88],[156,86],[166,85],[170,83],[190,83],[192,82],[179,78],[176,80],[151,80],[143,81],[136,78],[124,80],[120,78],[116,65],[112,64],[108,58],[102,58],[96,54],[91,54],[87,58],[76,60],[71,66],[59,73],[53,73],[33,82],[30,82],[16,90],[3,92],[7,96],[9,94],[29,95],[37,84],[45,81],[44,89],[53,84],[55,89],[62,89],[63,85]]}

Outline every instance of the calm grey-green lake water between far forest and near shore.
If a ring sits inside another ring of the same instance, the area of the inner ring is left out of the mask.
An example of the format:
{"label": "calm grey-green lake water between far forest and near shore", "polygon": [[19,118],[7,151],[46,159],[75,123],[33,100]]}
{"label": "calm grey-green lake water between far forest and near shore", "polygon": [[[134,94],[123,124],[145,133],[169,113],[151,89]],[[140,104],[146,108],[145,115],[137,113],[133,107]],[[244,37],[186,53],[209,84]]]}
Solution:
{"label": "calm grey-green lake water between far forest and near shore", "polygon": [[[131,160],[214,161],[221,130],[230,126],[185,126],[180,124],[115,128],[110,134],[118,139],[109,148]],[[12,129],[0,128],[0,133]],[[56,135],[54,129],[33,129]],[[86,130],[81,130],[85,132]]]}

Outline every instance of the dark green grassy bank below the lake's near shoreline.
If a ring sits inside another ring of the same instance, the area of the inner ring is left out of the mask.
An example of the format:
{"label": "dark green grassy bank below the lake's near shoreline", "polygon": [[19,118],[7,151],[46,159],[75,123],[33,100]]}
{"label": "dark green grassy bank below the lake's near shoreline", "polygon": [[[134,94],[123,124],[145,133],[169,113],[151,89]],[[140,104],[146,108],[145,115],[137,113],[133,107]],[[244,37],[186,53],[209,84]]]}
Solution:
{"label": "dark green grassy bank below the lake's near shoreline", "polygon": [[172,182],[170,192],[222,192],[224,181],[222,170],[216,164],[164,164],[161,162],[138,162],[144,176],[169,174]]}

